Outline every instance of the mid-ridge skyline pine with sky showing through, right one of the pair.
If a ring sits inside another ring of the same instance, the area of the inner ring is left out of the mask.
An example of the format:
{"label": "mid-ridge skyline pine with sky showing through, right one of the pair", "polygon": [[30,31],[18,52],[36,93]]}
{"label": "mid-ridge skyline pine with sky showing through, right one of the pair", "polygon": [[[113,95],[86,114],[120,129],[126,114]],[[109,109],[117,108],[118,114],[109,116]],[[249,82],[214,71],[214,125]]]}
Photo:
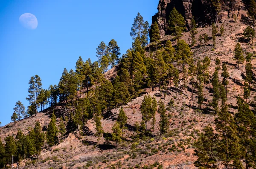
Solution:
{"label": "mid-ridge skyline pine with sky showing through, right one of the pair", "polygon": [[108,52],[110,53],[111,67],[113,68],[116,63],[119,63],[120,48],[115,40],[108,43]]}

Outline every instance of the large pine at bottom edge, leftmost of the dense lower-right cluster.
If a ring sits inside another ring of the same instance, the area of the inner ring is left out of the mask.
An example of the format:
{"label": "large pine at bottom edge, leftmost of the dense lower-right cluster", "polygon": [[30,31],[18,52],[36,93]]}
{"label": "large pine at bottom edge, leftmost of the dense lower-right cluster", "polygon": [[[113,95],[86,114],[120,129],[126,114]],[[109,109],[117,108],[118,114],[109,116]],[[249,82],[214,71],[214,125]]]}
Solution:
{"label": "large pine at bottom edge, leftmost of the dense lower-right cluster", "polygon": [[203,129],[198,141],[195,143],[195,150],[198,159],[194,162],[199,168],[217,168],[218,162],[218,135],[213,132],[212,126]]}

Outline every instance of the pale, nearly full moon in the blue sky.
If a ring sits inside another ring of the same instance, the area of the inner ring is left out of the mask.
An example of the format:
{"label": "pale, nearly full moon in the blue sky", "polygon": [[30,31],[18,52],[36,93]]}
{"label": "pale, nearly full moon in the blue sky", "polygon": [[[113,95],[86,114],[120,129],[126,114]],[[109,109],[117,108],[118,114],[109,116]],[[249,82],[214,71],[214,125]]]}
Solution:
{"label": "pale, nearly full moon in the blue sky", "polygon": [[36,29],[38,26],[38,20],[35,15],[30,13],[25,13],[20,15],[20,23],[23,27],[27,29]]}

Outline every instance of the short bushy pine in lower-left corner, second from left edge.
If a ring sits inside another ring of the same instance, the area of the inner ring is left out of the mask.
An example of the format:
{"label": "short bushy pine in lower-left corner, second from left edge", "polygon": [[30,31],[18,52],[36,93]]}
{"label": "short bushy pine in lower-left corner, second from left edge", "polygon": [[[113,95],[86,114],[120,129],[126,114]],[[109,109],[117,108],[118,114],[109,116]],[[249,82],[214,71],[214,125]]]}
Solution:
{"label": "short bushy pine in lower-left corner, second from left edge", "polygon": [[4,140],[6,142],[6,145],[4,147],[6,163],[10,165],[12,163],[12,155],[14,161],[16,161],[17,146],[15,144],[15,139],[12,136],[8,136]]}

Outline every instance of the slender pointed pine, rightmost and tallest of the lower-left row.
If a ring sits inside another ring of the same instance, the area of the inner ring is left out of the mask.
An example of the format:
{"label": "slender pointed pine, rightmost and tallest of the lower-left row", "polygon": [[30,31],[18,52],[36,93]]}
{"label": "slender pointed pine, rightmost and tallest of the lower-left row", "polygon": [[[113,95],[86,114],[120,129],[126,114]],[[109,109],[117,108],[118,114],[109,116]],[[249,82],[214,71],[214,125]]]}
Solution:
{"label": "slender pointed pine, rightmost and tallest of the lower-left row", "polygon": [[52,146],[54,146],[58,142],[58,137],[57,137],[57,126],[56,126],[56,116],[54,112],[52,112],[52,117],[50,120],[50,123],[47,128],[47,144],[49,145],[51,151],[52,151]]}

